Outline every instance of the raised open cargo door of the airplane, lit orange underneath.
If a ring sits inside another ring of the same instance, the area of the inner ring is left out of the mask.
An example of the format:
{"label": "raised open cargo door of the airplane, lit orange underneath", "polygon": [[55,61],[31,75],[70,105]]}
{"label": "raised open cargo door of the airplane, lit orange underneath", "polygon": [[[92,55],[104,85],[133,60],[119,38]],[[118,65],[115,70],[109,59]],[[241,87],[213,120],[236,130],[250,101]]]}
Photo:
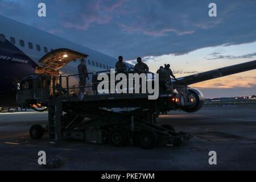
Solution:
{"label": "raised open cargo door of the airplane, lit orange underneath", "polygon": [[59,69],[63,68],[69,62],[88,57],[84,53],[72,51],[71,49],[55,49],[46,55],[44,55],[40,60],[39,63],[42,64],[41,66],[36,68],[35,73],[42,73],[48,75],[59,75]]}

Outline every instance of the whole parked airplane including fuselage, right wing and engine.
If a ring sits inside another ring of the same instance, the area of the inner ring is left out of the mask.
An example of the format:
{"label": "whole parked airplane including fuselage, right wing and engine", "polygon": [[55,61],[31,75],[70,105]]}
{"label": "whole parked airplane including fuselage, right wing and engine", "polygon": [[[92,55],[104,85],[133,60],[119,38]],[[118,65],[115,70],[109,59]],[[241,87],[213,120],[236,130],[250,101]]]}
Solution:
{"label": "whole parked airplane including fuselage, right wing and engine", "polygon": [[[58,36],[38,30],[5,18],[0,15],[0,105],[15,103],[15,80],[21,80],[27,75],[35,73],[40,66],[39,60],[60,48],[72,49],[77,52],[89,55],[86,60],[88,72],[96,73],[110,68],[114,68],[116,59],[103,53],[94,51],[90,48],[72,43],[69,40],[59,38]],[[79,61],[72,61],[60,69],[61,74],[77,74],[77,65]],[[125,63],[127,68],[134,68],[134,65]],[[247,63],[232,65],[229,67],[214,69],[203,73],[177,78],[172,80],[177,92],[183,92],[179,88],[184,88],[190,84],[228,76],[235,73],[245,72],[256,69],[256,60]],[[204,104],[204,96],[200,90],[189,88],[193,95],[193,104],[184,111],[194,112]]]}

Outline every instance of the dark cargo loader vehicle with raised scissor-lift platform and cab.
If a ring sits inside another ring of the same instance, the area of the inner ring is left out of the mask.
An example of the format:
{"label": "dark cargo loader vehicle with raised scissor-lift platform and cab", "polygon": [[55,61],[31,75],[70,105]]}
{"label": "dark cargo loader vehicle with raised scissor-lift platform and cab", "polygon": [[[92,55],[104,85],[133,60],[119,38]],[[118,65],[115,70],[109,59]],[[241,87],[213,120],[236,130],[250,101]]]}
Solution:
{"label": "dark cargo loader vehicle with raised scissor-lift platform and cab", "polygon": [[[30,87],[18,92],[20,103],[26,106],[40,103],[48,108],[48,126],[31,126],[31,138],[40,139],[48,132],[49,142],[55,144],[75,139],[113,146],[130,143],[146,149],[167,144],[179,146],[192,138],[189,133],[175,131],[171,125],[155,123],[161,112],[180,109],[185,103],[172,85],[159,93],[156,100],[148,100],[148,93],[99,94],[98,73],[88,75],[92,76],[92,82],[84,86],[84,92],[81,86],[69,86],[69,80],[79,75],[53,77],[49,84],[52,89],[44,84],[49,80],[47,75],[28,76],[23,80],[22,85],[28,82]],[[47,96],[49,90],[52,94]]]}

